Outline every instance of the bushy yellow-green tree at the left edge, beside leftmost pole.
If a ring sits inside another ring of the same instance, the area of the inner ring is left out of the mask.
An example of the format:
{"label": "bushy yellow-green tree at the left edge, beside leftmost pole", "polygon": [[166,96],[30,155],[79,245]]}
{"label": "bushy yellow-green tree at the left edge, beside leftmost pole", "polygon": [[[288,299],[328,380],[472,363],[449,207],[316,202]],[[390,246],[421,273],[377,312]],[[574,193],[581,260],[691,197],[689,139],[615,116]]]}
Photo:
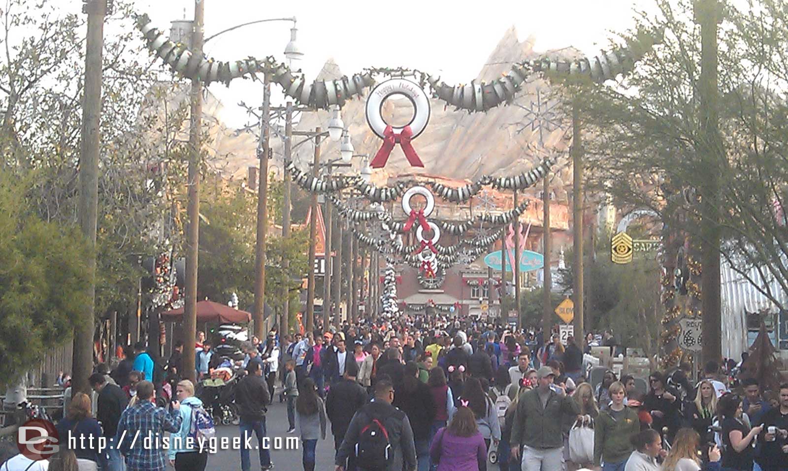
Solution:
{"label": "bushy yellow-green tree at the left edge, beside leftmost pole", "polygon": [[27,198],[29,183],[0,172],[0,378],[6,384],[71,339],[87,302],[80,235],[39,217]]}

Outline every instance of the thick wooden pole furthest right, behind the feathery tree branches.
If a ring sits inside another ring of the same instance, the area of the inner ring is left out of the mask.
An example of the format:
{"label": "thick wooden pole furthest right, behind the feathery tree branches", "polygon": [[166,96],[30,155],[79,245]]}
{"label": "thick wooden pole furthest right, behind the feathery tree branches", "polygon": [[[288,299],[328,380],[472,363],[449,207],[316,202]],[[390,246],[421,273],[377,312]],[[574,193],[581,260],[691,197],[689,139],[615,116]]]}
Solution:
{"label": "thick wooden pole furthest right, behind the feathery tree branches", "polygon": [[719,175],[724,165],[723,141],[719,135],[719,89],[717,28],[722,6],[717,0],[696,0],[695,21],[701,25],[701,76],[698,91],[701,97],[701,151],[706,181],[698,188],[701,200],[701,292],[703,362],[722,358],[722,317],[720,316],[719,281]]}

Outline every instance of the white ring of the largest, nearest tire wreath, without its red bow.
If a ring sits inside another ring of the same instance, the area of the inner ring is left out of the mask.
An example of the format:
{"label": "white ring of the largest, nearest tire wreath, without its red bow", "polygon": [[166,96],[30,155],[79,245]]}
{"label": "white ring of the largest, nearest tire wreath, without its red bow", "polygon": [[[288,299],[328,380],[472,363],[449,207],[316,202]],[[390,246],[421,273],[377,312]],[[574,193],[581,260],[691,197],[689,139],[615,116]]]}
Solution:
{"label": "white ring of the largest, nearest tire wreath, without its red bow", "polygon": [[[429,98],[427,98],[424,89],[411,80],[392,79],[378,84],[370,93],[369,98],[366,98],[366,122],[370,124],[370,128],[377,137],[385,139],[385,129],[388,124],[383,121],[381,107],[386,98],[391,95],[405,95],[411,100],[413,117],[411,122],[405,126],[411,127],[413,138],[417,137],[427,127],[427,121],[429,121]],[[392,129],[396,134],[400,134],[405,126],[392,125]]]}

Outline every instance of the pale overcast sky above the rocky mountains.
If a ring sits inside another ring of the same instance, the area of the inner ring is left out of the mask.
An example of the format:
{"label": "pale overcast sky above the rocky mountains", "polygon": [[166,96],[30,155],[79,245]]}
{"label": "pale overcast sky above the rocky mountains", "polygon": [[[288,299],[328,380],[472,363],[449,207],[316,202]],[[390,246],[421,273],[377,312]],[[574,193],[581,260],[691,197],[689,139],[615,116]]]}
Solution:
{"label": "pale overcast sky above the rocky mountains", "polygon": [[[633,9],[652,9],[652,0],[499,0],[497,2],[325,2],[302,0],[203,0],[206,36],[251,20],[273,17],[298,19],[298,44],[304,53],[301,65],[307,78],[333,57],[349,75],[364,67],[397,67],[440,73],[448,83],[473,79],[507,28],[515,26],[522,41],[536,39],[544,51],[574,46],[596,54],[633,24]],[[64,4],[69,0],[58,0]],[[169,23],[191,19],[191,0],[136,0],[169,31]],[[273,22],[240,28],[206,44],[206,54],[218,60],[274,55],[284,61],[290,24]],[[225,105],[222,118],[240,126],[245,116],[240,100],[262,99],[260,86],[234,81],[228,89],[214,84],[210,91]],[[278,88],[278,87],[275,87]],[[274,100],[281,100],[276,94]]]}

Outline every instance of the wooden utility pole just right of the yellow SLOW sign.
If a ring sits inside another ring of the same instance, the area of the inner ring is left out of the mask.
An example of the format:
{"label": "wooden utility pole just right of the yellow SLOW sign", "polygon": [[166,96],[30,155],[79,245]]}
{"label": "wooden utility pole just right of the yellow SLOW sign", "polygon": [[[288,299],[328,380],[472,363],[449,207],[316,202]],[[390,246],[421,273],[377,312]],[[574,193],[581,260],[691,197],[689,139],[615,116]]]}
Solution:
{"label": "wooden utility pole just right of the yellow SLOW sign", "polygon": [[572,102],[572,232],[574,240],[574,343],[583,349],[583,141],[578,98]]}

